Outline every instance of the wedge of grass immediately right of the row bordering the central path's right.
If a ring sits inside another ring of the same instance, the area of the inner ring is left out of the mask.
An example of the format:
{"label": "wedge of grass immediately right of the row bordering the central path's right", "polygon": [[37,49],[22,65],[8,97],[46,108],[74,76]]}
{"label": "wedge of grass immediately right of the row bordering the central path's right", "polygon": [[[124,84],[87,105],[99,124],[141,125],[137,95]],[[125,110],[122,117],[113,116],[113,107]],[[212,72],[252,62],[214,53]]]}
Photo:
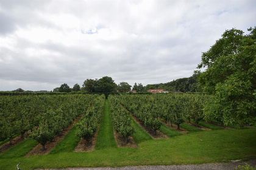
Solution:
{"label": "wedge of grass immediately right of the row bordering the central path's right", "polygon": [[142,129],[140,127],[140,125],[138,125],[138,123],[136,123],[135,120],[133,120],[133,118],[132,118],[132,124],[133,124],[134,130],[135,130],[132,137],[136,143],[141,143],[142,141],[153,139],[151,137],[151,135],[149,135],[147,132],[145,132],[144,129]]}

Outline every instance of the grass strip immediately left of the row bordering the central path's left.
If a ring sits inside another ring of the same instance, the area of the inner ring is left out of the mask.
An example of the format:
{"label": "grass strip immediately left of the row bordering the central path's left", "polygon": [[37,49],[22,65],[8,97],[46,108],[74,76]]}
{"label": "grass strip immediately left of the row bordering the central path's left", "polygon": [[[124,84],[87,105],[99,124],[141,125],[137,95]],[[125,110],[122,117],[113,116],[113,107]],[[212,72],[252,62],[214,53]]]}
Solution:
{"label": "grass strip immediately left of the row bordering the central path's left", "polygon": [[56,154],[60,152],[72,152],[79,143],[80,138],[76,136],[76,126],[74,126],[68,134],[65,135],[63,140],[56,144],[49,154]]}

